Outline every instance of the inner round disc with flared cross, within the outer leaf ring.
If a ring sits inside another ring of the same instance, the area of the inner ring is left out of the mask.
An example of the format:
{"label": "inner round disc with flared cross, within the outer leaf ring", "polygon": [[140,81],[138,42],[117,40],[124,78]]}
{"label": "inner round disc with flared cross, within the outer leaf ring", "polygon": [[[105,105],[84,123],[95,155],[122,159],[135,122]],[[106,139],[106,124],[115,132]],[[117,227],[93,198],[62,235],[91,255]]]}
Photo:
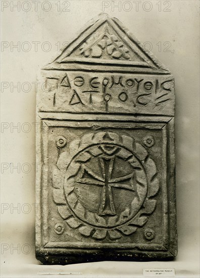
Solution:
{"label": "inner round disc with flared cross, within the outer leaf ring", "polygon": [[[80,167],[71,176],[77,164]],[[75,155],[66,176],[65,194],[71,210],[94,226],[127,222],[139,210],[147,192],[141,162],[130,150],[112,142],[91,145]]]}

